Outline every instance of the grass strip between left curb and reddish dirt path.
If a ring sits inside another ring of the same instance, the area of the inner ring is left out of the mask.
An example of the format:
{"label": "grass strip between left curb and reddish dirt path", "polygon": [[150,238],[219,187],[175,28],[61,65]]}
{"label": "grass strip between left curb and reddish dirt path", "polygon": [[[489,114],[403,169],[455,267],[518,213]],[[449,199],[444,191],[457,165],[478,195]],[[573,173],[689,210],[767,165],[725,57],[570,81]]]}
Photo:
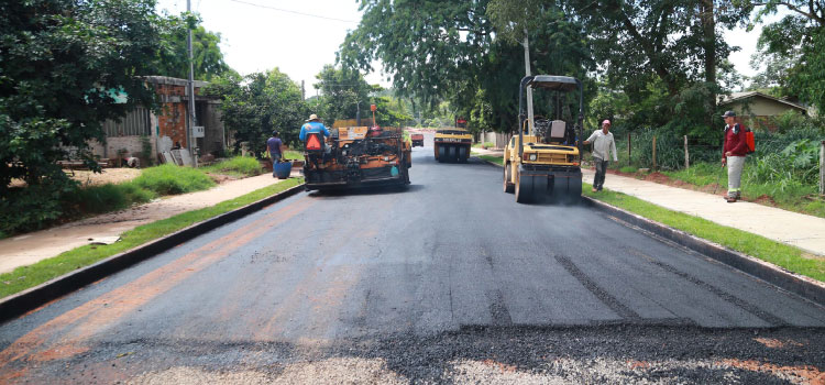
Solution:
{"label": "grass strip between left curb and reddish dirt path", "polygon": [[304,178],[290,178],[244,196],[224,200],[216,206],[184,212],[167,219],[136,227],[121,234],[121,240],[108,245],[85,245],[64,252],[55,257],[21,266],[13,272],[0,274],[0,298],[37,286],[100,260],[136,248],[146,242],[170,234],[221,213],[250,205],[273,194],[284,191],[304,183]]}

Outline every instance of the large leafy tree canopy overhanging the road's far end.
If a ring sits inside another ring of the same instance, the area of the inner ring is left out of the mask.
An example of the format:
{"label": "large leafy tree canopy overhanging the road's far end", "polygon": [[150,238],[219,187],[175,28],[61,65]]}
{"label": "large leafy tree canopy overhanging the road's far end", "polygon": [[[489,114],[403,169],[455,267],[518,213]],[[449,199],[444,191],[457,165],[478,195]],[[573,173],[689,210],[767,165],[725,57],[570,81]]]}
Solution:
{"label": "large leafy tree canopy overhanging the road's far end", "polygon": [[[514,130],[524,51],[495,37],[486,7],[486,0],[364,0],[361,24],[348,34],[339,61],[371,70],[378,59],[393,74],[399,96],[430,108],[448,100],[454,114],[471,118],[471,127]],[[535,73],[585,78],[594,67],[582,26],[558,20],[559,12],[538,18]]]}

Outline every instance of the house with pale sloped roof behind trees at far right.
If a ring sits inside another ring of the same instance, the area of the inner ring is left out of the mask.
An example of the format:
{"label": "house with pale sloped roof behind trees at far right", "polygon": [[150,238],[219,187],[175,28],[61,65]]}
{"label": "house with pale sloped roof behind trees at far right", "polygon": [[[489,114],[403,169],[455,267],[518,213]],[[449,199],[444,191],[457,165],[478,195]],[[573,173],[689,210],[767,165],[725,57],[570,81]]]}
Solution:
{"label": "house with pale sloped roof behind trees at far right", "polygon": [[788,111],[807,116],[807,109],[804,106],[758,91],[733,92],[730,96],[722,95],[718,106],[721,110],[736,112],[737,120],[745,125],[770,131],[777,130],[776,118]]}

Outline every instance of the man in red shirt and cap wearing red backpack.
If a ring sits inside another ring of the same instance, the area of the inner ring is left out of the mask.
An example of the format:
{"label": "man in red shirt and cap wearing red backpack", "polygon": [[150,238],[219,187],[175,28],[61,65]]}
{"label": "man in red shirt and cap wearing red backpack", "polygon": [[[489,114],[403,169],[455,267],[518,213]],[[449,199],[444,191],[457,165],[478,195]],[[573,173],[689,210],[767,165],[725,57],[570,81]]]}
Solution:
{"label": "man in red shirt and cap wearing red backpack", "polygon": [[722,166],[727,166],[727,200],[733,204],[741,198],[741,172],[748,154],[745,128],[736,122],[736,112],[725,111],[725,141],[722,146]]}

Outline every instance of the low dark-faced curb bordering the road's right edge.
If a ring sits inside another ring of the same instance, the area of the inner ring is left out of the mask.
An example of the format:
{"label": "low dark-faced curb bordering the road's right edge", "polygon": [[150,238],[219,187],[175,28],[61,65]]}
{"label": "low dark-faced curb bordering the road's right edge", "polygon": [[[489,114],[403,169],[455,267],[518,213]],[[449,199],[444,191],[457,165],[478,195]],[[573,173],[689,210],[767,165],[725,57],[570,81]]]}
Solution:
{"label": "low dark-faced curb bordering the road's right edge", "polygon": [[[491,166],[501,165],[476,157],[482,163]],[[691,249],[713,260],[722,262],[740,272],[752,275],[784,290],[801,296],[820,305],[825,305],[825,283],[800,275],[777,266],[770,262],[759,260],[745,253],[727,249],[718,243],[690,234],[685,231],[673,229],[664,223],[641,217],[625,209],[605,204],[603,201],[582,196],[582,201],[600,211],[606,212],[617,219],[649,231],[658,237],[664,238],[679,245]]]}

